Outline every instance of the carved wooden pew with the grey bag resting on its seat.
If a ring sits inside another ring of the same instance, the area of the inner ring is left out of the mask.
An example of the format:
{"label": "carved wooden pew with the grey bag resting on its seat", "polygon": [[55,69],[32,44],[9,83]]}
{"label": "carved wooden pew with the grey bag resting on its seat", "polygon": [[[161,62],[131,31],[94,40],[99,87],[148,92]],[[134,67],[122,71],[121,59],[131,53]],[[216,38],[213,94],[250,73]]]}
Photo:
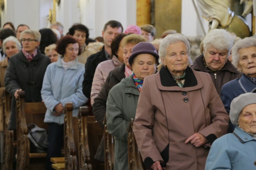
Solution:
{"label": "carved wooden pew with the grey bag resting on its seat", "polygon": [[[25,103],[25,92],[19,91],[16,101],[16,128],[17,128],[17,170],[45,169],[46,153],[30,153],[28,127],[34,123],[40,128],[48,129],[44,123],[46,107],[42,102]],[[42,159],[44,158],[44,159]]]}

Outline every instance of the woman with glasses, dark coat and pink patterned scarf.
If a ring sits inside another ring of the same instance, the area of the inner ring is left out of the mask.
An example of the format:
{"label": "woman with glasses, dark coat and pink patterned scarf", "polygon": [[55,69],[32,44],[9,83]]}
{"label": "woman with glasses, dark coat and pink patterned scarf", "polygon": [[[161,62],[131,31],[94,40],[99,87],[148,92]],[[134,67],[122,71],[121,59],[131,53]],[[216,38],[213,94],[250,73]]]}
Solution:
{"label": "woman with glasses, dark coat and pink patterned scarf", "polygon": [[41,89],[44,73],[51,63],[49,57],[38,50],[41,34],[34,30],[25,30],[20,35],[22,50],[10,58],[4,78],[5,88],[12,98],[9,129],[16,129],[15,98],[18,91],[25,91],[25,102],[41,102]]}

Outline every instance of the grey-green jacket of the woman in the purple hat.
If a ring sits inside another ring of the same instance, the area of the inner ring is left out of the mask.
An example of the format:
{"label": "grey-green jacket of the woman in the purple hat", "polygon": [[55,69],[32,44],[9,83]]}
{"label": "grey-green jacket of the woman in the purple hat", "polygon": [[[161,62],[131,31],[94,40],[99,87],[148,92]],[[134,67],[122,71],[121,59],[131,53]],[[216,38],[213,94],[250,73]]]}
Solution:
{"label": "grey-green jacket of the woman in the purple hat", "polygon": [[133,77],[123,79],[109,92],[106,109],[108,131],[115,139],[114,170],[128,169],[127,128],[135,118],[140,92]]}

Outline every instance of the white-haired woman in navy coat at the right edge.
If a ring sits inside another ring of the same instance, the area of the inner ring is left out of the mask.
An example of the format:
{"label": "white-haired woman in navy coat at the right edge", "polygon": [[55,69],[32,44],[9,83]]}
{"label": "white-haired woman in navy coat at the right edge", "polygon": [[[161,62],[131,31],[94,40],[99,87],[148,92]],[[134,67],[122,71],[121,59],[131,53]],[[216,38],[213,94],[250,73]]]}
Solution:
{"label": "white-haired woman in navy coat at the right edge", "polygon": [[[232,64],[242,72],[242,77],[225,84],[221,89],[221,99],[226,111],[230,111],[231,101],[247,92],[256,93],[256,39],[244,38],[232,48]],[[229,123],[229,131],[236,126]]]}

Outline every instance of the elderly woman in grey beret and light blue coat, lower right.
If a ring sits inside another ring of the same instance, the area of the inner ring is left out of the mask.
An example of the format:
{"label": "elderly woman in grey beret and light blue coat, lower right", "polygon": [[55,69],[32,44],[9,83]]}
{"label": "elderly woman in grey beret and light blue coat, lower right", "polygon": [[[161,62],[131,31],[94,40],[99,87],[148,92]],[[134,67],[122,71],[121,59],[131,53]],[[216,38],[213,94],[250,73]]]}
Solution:
{"label": "elderly woman in grey beret and light blue coat, lower right", "polygon": [[229,116],[237,127],[213,142],[205,170],[256,169],[256,94],[234,98]]}

